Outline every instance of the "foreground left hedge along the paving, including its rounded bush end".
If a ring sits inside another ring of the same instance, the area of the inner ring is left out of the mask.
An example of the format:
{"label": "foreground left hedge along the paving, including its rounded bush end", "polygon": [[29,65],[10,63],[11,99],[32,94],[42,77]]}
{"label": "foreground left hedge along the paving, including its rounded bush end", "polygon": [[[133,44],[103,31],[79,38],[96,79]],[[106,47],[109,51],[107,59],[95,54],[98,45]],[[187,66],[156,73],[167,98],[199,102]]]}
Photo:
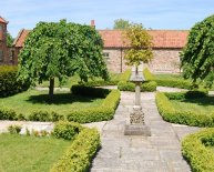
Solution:
{"label": "foreground left hedge along the paving, including its rounded bush end", "polygon": [[[55,133],[58,138],[75,135],[71,146],[62,158],[52,166],[51,172],[85,172],[89,171],[92,159],[101,145],[100,134],[96,129],[80,128],[77,123],[58,123]],[[60,129],[59,129],[60,128]],[[60,132],[59,132],[60,131]],[[71,134],[68,134],[70,133]]]}

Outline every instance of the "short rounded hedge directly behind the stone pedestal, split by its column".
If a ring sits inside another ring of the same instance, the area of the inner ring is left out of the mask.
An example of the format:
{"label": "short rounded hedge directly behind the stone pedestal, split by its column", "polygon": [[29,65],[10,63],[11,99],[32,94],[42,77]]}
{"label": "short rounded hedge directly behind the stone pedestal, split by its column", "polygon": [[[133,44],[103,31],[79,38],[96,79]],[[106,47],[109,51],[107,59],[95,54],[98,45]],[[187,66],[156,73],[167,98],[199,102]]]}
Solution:
{"label": "short rounded hedge directly behind the stone pedestal, split by its column", "polygon": [[[122,77],[120,82],[118,83],[118,89],[121,91],[135,91],[135,84],[132,82],[129,82],[129,79],[131,77],[131,70],[126,70]],[[156,82],[155,81],[144,81],[141,84],[141,91],[156,91]]]}

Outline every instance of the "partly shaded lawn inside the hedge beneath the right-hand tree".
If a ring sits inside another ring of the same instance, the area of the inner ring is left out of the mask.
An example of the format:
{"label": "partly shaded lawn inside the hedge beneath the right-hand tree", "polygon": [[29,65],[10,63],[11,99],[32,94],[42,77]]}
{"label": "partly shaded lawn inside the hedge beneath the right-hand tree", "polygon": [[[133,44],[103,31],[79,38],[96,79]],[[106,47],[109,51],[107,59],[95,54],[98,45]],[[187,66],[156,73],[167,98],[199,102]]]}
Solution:
{"label": "partly shaded lawn inside the hedge beneath the right-hand tree", "polygon": [[180,111],[195,111],[198,113],[214,112],[214,97],[200,99],[171,100],[173,107]]}

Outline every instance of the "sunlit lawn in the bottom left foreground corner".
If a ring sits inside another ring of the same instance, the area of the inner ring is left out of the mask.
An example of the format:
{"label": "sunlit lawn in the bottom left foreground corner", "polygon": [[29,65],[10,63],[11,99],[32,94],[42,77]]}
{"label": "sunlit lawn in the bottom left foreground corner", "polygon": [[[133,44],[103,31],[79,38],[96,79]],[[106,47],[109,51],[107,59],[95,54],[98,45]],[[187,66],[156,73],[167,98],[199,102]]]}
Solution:
{"label": "sunlit lawn in the bottom left foreground corner", "polygon": [[48,172],[71,141],[0,134],[1,172]]}

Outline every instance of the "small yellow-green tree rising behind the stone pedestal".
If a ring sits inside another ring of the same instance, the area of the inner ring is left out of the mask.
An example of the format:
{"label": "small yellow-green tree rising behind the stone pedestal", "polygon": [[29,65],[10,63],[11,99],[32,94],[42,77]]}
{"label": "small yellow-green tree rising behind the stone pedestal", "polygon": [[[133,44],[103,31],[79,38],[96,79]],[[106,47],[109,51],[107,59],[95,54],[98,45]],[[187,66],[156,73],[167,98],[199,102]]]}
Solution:
{"label": "small yellow-green tree rising behind the stone pedestal", "polygon": [[136,73],[137,67],[147,63],[152,58],[152,37],[146,32],[142,24],[132,23],[123,32],[123,40],[125,47],[124,59],[128,65],[135,65]]}

